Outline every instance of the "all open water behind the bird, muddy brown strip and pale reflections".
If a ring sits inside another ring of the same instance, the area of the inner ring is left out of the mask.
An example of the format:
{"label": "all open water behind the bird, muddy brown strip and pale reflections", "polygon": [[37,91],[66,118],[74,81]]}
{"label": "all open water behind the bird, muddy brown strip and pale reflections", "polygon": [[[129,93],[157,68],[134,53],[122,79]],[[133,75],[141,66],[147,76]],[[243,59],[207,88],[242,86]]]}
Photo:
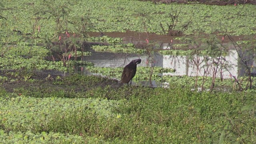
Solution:
{"label": "all open water behind the bird, muddy brown strip and pale reflections", "polygon": [[[146,44],[146,38],[150,38],[150,40],[157,42],[160,44],[159,49],[169,49],[170,41],[173,40],[174,43],[178,44],[180,43],[178,40],[174,40],[177,37],[181,36],[167,36],[167,35],[158,35],[158,34],[146,34],[146,33],[139,33],[139,32],[106,32],[106,33],[98,33],[98,32],[90,32],[88,33],[90,36],[101,36],[106,35],[109,37],[115,37],[115,38],[122,38],[123,43],[133,43],[136,45],[136,47],[143,47]],[[220,39],[222,39],[222,36],[218,36]],[[232,36],[234,41],[243,40],[244,36]],[[225,37],[223,43],[228,43],[230,40]],[[238,53],[235,50],[232,50],[234,48],[230,47],[230,54],[228,56],[225,56],[224,59],[226,60],[225,64],[227,64],[228,70],[222,70],[222,78],[230,78],[230,76],[242,76],[245,73],[245,68],[239,64],[238,61]],[[147,66],[146,62],[148,60],[148,55],[146,54],[125,54],[125,53],[111,53],[111,52],[95,52],[91,48],[87,48],[86,51],[92,52],[91,56],[84,56],[83,60],[88,62],[93,62],[94,66],[97,67],[124,67],[127,64],[130,63],[131,60],[140,58],[142,62],[138,64],[138,66]],[[200,62],[202,62],[202,57],[199,58]],[[255,62],[250,62],[252,65],[256,66]],[[196,73],[198,73],[198,76],[202,76],[204,74],[204,68],[203,65],[205,63],[202,62],[200,64],[200,70],[196,72],[196,66],[193,64],[193,58],[188,58],[188,56],[172,56],[172,55],[162,55],[162,54],[154,54],[154,63],[151,64],[152,66],[158,66],[162,68],[172,68],[176,71],[174,73],[161,73],[159,75],[171,75],[171,76],[196,76]],[[78,67],[76,68],[76,72],[82,73],[85,75],[91,75],[88,70],[86,70],[86,67]],[[220,77],[220,73],[217,73],[217,77]],[[208,71],[209,75],[212,76],[212,72]],[[255,69],[254,69],[255,73]],[[101,75],[101,74],[94,74],[94,75]],[[120,78],[114,78],[116,80],[120,80]],[[143,85],[143,86],[163,86],[165,84],[159,84],[157,82],[152,81],[142,81],[139,82],[139,84],[136,84],[132,82],[133,85]],[[168,83],[166,83],[168,85]]]}

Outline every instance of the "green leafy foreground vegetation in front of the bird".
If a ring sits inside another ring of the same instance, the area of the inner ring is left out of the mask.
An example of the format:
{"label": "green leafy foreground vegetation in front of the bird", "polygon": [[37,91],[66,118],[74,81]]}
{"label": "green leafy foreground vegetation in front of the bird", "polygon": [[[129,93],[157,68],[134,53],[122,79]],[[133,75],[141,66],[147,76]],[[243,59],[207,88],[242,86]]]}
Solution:
{"label": "green leafy foreground vegetation in front of the bird", "polygon": [[256,142],[254,92],[127,87],[80,75],[36,83],[23,82],[12,91],[0,86],[0,141]]}

